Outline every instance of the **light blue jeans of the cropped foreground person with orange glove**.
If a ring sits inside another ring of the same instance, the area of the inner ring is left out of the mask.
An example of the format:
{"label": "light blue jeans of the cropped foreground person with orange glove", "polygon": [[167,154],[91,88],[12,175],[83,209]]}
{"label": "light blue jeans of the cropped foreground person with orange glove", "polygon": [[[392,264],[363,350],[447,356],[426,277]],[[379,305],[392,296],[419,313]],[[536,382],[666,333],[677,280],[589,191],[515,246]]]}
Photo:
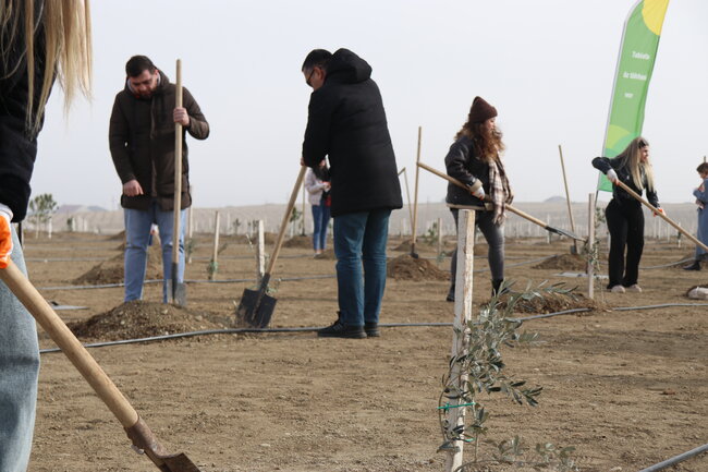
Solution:
{"label": "light blue jeans of the cropped foreground person with orange glove", "polygon": [[[12,261],[26,273],[12,231]],[[0,282],[0,472],[27,469],[37,404],[39,348],[35,319]]]}

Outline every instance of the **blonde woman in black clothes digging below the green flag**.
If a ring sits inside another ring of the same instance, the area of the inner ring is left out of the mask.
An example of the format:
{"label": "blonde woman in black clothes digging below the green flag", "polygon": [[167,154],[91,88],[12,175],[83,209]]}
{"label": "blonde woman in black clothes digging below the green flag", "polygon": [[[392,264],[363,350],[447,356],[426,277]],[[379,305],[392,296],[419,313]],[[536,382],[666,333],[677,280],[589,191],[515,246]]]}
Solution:
{"label": "blonde woman in black clothes digging below the green flag", "polygon": [[[649,143],[644,137],[636,137],[617,157],[593,159],[593,167],[602,171],[613,184],[612,199],[605,209],[610,231],[610,282],[607,289],[614,293],[640,292],[637,281],[644,250],[644,213],[639,201],[615,185],[615,182],[623,182],[639,195],[646,189],[647,199],[659,208],[654,170],[649,161]],[[663,213],[663,209],[659,209]]]}

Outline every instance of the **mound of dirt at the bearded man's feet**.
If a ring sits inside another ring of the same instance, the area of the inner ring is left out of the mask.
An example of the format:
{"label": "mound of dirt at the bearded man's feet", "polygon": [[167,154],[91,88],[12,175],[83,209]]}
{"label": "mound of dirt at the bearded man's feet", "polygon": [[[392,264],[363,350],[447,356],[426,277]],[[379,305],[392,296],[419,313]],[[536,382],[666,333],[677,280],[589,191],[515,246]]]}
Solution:
{"label": "mound of dirt at the bearded man's feet", "polygon": [[203,313],[141,300],[125,302],[84,322],[69,323],[68,326],[76,337],[97,341],[148,338],[227,327],[208,319],[208,315]]}

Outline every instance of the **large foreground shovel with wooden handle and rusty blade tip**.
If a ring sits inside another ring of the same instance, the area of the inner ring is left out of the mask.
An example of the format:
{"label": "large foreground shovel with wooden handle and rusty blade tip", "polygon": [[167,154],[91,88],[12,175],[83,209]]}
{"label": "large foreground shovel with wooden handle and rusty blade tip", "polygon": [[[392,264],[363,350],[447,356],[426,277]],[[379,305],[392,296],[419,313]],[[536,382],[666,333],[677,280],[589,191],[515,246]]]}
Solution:
{"label": "large foreground shovel with wooden handle and rusty blade tip", "polygon": [[12,262],[0,269],[0,279],[22,302],[37,323],[84,376],[98,397],[125,428],[127,437],[141,453],[145,453],[162,472],[199,472],[199,469],[184,455],[168,453],[157,440],[147,424],[141,419],[115,384],[106,375],[96,360],[78,342],[49,303],[37,292]]}

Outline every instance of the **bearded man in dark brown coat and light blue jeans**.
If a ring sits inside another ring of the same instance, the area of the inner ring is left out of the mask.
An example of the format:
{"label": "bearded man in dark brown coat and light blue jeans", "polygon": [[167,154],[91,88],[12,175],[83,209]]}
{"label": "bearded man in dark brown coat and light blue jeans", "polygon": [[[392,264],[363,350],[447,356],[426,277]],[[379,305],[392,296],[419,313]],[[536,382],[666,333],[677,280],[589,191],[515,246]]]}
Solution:
{"label": "bearded man in dark brown coat and light blue jeans", "polygon": [[[115,96],[109,144],[118,176],[123,183],[121,206],[125,218],[125,301],[143,298],[150,227],[156,223],[162,243],[162,301],[168,300],[172,278],[171,253],[174,226],[174,123],[197,140],[209,136],[196,100],[183,89],[184,107],[175,108],[175,86],[145,56],[125,64],[125,88]],[[180,220],[192,205],[187,144],[182,155]],[[184,280],[184,225],[180,223],[178,282]]]}

